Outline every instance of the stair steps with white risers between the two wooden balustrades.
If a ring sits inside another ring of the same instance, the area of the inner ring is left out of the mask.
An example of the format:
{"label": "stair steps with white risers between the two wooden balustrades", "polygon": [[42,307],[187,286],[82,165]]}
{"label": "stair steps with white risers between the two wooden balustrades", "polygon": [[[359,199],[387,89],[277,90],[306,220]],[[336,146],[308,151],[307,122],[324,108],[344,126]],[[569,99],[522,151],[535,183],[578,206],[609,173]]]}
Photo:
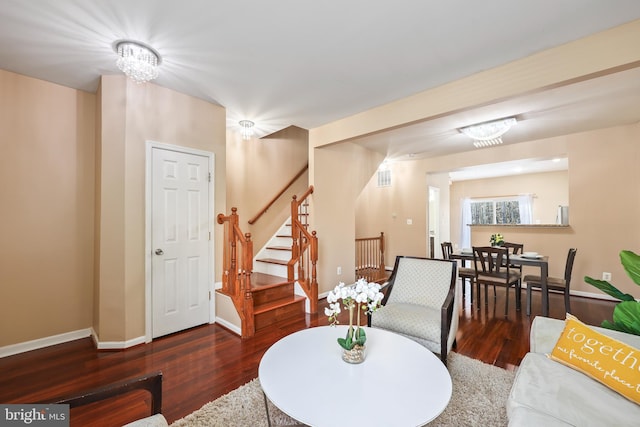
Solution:
{"label": "stair steps with white risers between the two wooden balustrades", "polygon": [[305,314],[304,292],[296,290],[295,280],[287,279],[291,247],[291,222],[287,221],[254,259],[251,293],[256,331]]}

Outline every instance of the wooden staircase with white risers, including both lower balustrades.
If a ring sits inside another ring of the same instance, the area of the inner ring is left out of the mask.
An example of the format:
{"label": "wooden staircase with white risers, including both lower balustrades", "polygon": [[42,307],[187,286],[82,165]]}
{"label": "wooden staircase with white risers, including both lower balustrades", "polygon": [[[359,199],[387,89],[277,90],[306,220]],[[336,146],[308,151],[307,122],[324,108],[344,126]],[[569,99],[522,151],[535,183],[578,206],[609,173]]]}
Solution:
{"label": "wooden staircase with white risers, including both lower balustrades", "polygon": [[307,231],[306,199],[312,193],[310,186],[299,200],[293,196],[289,221],[255,257],[251,234],[242,232],[237,209],[217,216],[225,225],[222,288],[217,292],[233,301],[243,338],[318,311],[318,239],[315,231]]}

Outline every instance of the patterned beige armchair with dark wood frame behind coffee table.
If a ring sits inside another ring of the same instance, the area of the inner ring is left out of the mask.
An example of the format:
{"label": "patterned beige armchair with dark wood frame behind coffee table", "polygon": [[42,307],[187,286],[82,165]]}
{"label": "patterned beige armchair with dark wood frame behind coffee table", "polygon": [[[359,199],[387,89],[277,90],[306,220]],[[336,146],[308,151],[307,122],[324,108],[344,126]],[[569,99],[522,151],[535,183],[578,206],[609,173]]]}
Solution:
{"label": "patterned beige armchair with dark wood frame behind coffee table", "polygon": [[369,316],[369,326],[411,338],[446,365],[458,330],[456,278],[455,261],[397,257],[383,307]]}

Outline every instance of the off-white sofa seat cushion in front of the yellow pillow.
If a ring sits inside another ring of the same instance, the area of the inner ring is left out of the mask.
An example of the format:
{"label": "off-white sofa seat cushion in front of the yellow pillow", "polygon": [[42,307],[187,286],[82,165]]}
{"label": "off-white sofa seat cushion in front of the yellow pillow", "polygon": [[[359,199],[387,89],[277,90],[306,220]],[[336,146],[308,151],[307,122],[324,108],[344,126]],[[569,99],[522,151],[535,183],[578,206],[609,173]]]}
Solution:
{"label": "off-white sofa seat cushion in front of the yellow pillow", "polygon": [[544,425],[635,426],[640,419],[639,405],[540,353],[528,353],[516,372],[507,403],[510,423],[520,407],[558,420]]}

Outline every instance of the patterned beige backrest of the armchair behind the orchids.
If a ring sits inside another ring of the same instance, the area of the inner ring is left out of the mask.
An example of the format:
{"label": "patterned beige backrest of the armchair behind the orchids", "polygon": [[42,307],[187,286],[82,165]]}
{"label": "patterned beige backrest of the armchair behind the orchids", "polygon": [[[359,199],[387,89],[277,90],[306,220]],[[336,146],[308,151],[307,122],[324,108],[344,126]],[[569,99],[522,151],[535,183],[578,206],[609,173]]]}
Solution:
{"label": "patterned beige backrest of the armchair behind the orchids", "polygon": [[411,303],[442,307],[456,285],[456,262],[409,256],[396,257],[389,278],[386,303]]}

